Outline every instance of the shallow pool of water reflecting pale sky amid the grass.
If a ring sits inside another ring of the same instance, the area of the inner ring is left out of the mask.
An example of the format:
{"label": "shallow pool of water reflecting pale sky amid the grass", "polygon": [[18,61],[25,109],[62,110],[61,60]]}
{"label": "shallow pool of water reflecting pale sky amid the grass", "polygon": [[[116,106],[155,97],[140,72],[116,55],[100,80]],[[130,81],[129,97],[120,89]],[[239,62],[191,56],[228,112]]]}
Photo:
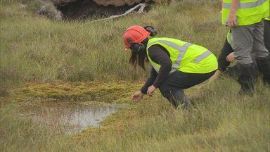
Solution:
{"label": "shallow pool of water reflecting pale sky amid the grass", "polygon": [[22,113],[34,122],[41,122],[51,127],[61,127],[66,134],[82,132],[87,127],[101,127],[106,116],[115,113],[122,105],[88,105],[84,103],[49,102],[25,108]]}

